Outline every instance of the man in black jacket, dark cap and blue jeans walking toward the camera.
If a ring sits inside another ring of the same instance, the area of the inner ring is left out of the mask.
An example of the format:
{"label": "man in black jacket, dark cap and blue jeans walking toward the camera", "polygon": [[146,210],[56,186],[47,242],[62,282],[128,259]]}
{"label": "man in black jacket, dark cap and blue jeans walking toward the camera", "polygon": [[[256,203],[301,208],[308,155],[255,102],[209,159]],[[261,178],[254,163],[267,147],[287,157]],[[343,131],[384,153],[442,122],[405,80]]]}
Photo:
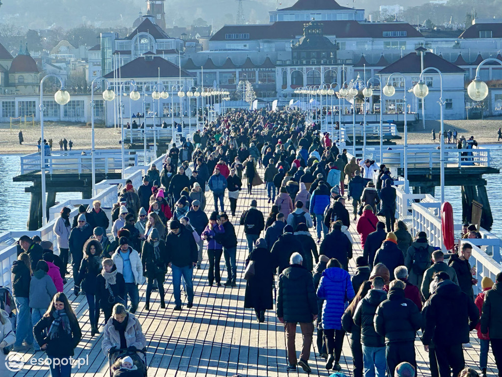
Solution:
{"label": "man in black jacket, dark cap and blue jeans walking toward the camera", "polygon": [[181,276],[185,281],[187,308],[193,306],[193,267],[197,265],[197,244],[192,233],[173,220],[166,237],[167,264],[172,269],[174,310],[181,310]]}

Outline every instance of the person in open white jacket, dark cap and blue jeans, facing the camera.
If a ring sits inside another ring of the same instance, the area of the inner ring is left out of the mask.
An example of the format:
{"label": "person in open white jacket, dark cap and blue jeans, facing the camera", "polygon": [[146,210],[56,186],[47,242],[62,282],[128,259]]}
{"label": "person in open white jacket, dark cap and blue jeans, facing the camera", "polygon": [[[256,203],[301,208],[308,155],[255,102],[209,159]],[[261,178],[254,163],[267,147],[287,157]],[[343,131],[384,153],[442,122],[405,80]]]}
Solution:
{"label": "person in open white jacket, dark cap and blue jeans, facing the camera", "polygon": [[[118,247],[111,256],[113,263],[117,267],[117,271],[122,274],[126,282],[126,292],[131,298],[131,313],[136,313],[138,304],[140,303],[140,293],[138,284],[143,284],[143,264],[138,251],[129,246],[127,237],[118,239]],[[127,295],[126,307],[127,307]]]}

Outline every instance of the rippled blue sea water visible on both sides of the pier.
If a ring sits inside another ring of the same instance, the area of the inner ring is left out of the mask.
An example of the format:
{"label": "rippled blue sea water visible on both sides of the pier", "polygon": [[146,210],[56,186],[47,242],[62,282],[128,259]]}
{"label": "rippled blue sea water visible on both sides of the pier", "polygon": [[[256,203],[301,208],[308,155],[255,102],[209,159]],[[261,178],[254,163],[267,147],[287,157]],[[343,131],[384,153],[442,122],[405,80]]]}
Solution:
{"label": "rippled blue sea water visible on both sides of the pier", "polygon": [[[491,165],[502,167],[502,146],[484,146],[490,149]],[[30,194],[24,189],[30,182],[13,182],[12,178],[20,173],[19,155],[0,155],[0,232],[7,230],[24,230],[30,209]],[[493,215],[492,232],[502,237],[502,175],[486,174],[488,181],[488,199]],[[436,188],[439,196],[439,187]],[[68,199],[80,199],[80,193],[58,193],[57,202]],[[445,199],[453,206],[453,216],[456,223],[462,220],[462,205],[460,186],[446,187]]]}

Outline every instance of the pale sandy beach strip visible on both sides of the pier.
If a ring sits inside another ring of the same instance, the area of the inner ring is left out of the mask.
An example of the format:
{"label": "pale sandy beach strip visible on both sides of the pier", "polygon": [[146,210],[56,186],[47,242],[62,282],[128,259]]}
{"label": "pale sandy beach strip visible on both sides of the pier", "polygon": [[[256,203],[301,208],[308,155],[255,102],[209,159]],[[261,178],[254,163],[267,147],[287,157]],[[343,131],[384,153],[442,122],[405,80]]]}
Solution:
{"label": "pale sandy beach strip visible on both sides of the pier", "polygon": [[[445,121],[445,130],[457,130],[458,136],[464,135],[469,138],[474,136],[479,144],[497,143],[497,130],[502,127],[502,118],[486,118],[484,120],[448,120]],[[422,122],[409,126],[409,144],[431,143],[432,128],[436,130],[436,143],[439,144],[439,121],[426,121],[425,130]],[[37,140],[40,138],[40,123],[35,122],[35,127],[23,128],[24,142],[19,144],[19,126],[10,130],[7,123],[0,124],[0,154],[28,154],[37,151]],[[53,150],[59,149],[59,140],[73,141],[74,149],[90,149],[91,126],[83,123],[55,123],[44,122],[44,137],[46,140],[52,138]],[[102,125],[95,125],[96,149],[118,149],[120,140],[120,129],[105,128]],[[403,140],[398,140],[402,144]],[[502,142],[501,142],[502,143]]]}

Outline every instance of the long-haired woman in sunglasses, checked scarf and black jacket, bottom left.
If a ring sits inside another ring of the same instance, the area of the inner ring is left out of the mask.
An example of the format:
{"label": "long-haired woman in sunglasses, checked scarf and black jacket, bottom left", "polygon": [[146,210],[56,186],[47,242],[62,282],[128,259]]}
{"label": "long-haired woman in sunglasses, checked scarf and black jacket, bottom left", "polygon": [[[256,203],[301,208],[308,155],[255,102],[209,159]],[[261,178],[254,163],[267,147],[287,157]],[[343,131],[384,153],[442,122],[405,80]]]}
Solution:
{"label": "long-haired woman in sunglasses, checked scarf and black jacket, bottom left", "polygon": [[[75,347],[82,339],[82,332],[64,293],[54,295],[47,312],[33,328],[33,334],[40,348],[51,359],[49,367],[52,377],[69,377],[70,356],[74,355]],[[54,362],[55,359],[59,362]]]}

